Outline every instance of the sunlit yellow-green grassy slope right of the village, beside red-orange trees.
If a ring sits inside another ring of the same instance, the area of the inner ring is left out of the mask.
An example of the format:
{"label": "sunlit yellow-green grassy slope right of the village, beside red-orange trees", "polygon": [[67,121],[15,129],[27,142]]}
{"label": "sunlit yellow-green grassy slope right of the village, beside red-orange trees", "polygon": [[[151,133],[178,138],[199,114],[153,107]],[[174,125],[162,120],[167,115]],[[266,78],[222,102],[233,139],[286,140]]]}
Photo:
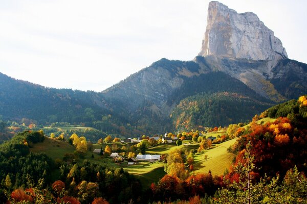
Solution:
{"label": "sunlit yellow-green grassy slope right of the village, beside red-orange trees", "polygon": [[[234,157],[233,154],[227,152],[227,148],[235,141],[236,139],[228,140],[206,150],[203,154],[196,154],[193,164],[195,173],[208,173],[211,170],[213,175],[223,175],[225,169],[231,167]],[[207,160],[204,159],[205,155],[208,155]]]}

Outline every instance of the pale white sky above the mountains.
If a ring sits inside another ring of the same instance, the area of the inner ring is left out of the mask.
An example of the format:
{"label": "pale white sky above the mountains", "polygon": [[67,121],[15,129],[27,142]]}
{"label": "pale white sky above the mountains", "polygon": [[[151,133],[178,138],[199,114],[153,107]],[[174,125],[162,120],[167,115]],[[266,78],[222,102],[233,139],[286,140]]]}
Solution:
{"label": "pale white sky above the mountains", "polygon": [[[47,87],[102,91],[151,63],[192,60],[205,0],[0,0],[0,72]],[[221,0],[258,15],[307,63],[307,1]]]}

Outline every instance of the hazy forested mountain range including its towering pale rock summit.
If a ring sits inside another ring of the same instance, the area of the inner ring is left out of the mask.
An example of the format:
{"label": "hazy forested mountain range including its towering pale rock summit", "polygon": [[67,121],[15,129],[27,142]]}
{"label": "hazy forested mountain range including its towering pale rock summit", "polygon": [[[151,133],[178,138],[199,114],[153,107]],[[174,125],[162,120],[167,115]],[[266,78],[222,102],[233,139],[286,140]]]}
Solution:
{"label": "hazy forested mountain range including its towering pale rock summit", "polygon": [[[0,115],[40,124],[85,122],[124,136],[161,134],[186,121],[189,128],[246,121],[305,94],[305,79],[307,65],[288,59],[256,14],[210,2],[201,52],[193,60],[161,59],[99,93],[46,88],[0,74]],[[188,110],[195,103],[200,111]]]}

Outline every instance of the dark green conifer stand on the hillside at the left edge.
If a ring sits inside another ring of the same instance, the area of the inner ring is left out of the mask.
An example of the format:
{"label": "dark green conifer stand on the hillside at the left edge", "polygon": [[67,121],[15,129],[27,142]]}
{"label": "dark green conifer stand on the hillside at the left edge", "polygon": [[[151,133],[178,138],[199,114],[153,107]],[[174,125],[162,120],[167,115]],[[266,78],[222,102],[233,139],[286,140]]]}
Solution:
{"label": "dark green conifer stand on the hillside at the left edge", "polygon": [[44,154],[33,154],[25,144],[42,141],[42,138],[41,132],[24,132],[0,146],[0,181],[8,179],[9,175],[14,188],[26,185],[27,174],[35,181],[42,178],[50,181],[47,175],[54,168],[53,161]]}

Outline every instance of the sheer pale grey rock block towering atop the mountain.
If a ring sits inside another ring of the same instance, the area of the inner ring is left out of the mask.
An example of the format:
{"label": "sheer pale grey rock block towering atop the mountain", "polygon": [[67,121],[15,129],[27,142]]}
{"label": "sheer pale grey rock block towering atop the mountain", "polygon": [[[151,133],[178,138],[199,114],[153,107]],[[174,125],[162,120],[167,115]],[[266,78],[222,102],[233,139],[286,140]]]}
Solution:
{"label": "sheer pale grey rock block towering atop the mountain", "polygon": [[218,2],[209,3],[207,28],[199,55],[269,61],[288,58],[281,41],[256,14],[238,14]]}

